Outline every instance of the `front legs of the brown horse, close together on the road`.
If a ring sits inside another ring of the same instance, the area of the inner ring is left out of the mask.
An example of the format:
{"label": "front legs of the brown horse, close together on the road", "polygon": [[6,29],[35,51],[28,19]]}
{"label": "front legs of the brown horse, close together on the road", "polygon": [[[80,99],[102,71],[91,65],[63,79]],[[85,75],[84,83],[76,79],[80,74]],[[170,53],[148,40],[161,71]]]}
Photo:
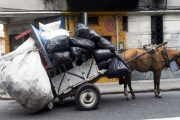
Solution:
{"label": "front legs of the brown horse, close together on the road", "polygon": [[154,93],[155,97],[161,98],[160,93],[160,77],[161,77],[161,70],[154,71]]}

